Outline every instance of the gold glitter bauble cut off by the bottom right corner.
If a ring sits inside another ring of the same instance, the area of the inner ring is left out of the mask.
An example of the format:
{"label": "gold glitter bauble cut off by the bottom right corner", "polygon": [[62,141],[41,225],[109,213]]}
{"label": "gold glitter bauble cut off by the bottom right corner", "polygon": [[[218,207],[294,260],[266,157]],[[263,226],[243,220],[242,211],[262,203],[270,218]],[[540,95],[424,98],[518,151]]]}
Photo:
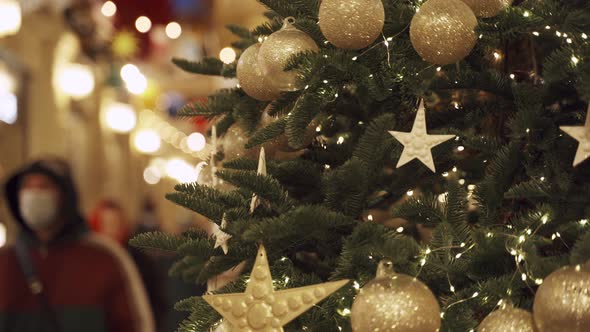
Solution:
{"label": "gold glitter bauble cut off by the bottom right corner", "polygon": [[590,262],[545,278],[535,295],[533,318],[539,332],[590,331]]}

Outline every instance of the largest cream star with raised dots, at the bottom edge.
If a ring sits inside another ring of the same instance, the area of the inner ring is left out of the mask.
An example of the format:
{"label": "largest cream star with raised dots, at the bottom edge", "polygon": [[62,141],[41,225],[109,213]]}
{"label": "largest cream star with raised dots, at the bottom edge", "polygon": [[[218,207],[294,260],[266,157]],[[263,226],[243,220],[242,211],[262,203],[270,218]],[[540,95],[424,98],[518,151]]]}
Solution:
{"label": "largest cream star with raised dots, at the bottom edge", "polygon": [[244,293],[204,295],[203,299],[238,331],[282,332],[283,326],[347,283],[339,280],[275,291],[266,250],[260,245]]}

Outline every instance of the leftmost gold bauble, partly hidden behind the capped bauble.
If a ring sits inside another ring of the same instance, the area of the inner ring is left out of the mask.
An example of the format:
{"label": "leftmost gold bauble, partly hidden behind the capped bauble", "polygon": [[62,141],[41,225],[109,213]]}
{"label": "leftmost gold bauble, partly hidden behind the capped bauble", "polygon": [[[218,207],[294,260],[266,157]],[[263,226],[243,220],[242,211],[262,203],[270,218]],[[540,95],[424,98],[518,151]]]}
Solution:
{"label": "leftmost gold bauble, partly hidden behind the capped bauble", "polygon": [[258,66],[260,46],[260,44],[254,44],[240,56],[237,66],[238,82],[248,96],[261,101],[270,101],[276,99],[280,91],[273,88]]}

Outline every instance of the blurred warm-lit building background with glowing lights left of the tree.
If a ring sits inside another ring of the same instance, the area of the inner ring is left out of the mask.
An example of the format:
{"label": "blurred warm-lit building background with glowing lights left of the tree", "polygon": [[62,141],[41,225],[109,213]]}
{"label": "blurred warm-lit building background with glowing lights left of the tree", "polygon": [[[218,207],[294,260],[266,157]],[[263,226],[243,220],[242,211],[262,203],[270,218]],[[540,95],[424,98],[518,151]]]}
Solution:
{"label": "blurred warm-lit building background with glowing lights left of the tree", "polygon": [[[164,195],[198,178],[209,124],[176,111],[236,83],[170,60],[219,54],[232,42],[224,26],[253,26],[263,10],[255,0],[0,0],[0,177],[61,156],[86,213],[106,197],[137,220],[149,199],[165,231],[198,222]],[[5,211],[0,223],[10,241]]]}

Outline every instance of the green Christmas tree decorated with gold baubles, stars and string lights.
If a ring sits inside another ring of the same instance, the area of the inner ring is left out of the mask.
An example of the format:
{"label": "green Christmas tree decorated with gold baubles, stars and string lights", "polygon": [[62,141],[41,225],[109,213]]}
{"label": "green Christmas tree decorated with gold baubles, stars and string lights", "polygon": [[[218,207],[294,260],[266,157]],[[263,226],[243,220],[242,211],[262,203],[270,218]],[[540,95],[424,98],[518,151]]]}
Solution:
{"label": "green Christmas tree decorated with gold baubles, stars and string lights", "polygon": [[590,328],[586,1],[260,2],[237,63],[175,60],[239,80],[181,112],[216,185],[168,196],[217,230],[132,242],[243,271],[179,331]]}

